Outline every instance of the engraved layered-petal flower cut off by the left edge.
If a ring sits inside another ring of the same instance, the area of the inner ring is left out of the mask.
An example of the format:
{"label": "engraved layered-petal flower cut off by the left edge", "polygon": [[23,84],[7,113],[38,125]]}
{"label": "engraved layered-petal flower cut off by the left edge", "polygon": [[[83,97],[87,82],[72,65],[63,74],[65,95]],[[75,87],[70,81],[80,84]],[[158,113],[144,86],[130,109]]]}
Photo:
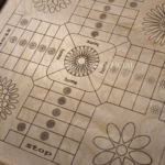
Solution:
{"label": "engraved layered-petal flower cut off by the left edge", "polygon": [[12,80],[8,80],[7,77],[2,79],[0,76],[0,119],[6,120],[7,116],[12,114],[12,110],[19,102],[16,100],[19,97],[18,90]]}

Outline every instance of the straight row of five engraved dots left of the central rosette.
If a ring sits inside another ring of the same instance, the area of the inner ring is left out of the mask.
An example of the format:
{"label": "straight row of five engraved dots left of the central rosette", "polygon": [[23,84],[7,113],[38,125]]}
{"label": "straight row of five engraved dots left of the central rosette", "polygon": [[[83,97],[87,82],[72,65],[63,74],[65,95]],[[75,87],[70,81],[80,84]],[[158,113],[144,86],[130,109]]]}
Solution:
{"label": "straight row of five engraved dots left of the central rosette", "polygon": [[[10,37],[9,42],[12,43],[12,44],[14,44],[14,43],[18,42],[18,37],[16,37],[16,36],[12,36],[12,37]],[[28,41],[26,41],[25,38],[22,38],[22,40],[19,42],[19,45],[20,45],[20,46],[26,46],[26,45],[28,45]],[[34,48],[36,48],[36,46],[37,46],[37,44],[36,44],[35,42],[31,42],[31,43],[29,44],[29,48],[30,48],[30,50],[34,50]],[[37,51],[38,51],[38,52],[45,52],[45,51],[46,51],[46,45],[40,45],[40,46],[37,47]],[[48,51],[47,51],[47,53],[48,53],[50,55],[54,55],[55,52],[56,52],[56,50],[55,50],[54,47],[50,47]]]}

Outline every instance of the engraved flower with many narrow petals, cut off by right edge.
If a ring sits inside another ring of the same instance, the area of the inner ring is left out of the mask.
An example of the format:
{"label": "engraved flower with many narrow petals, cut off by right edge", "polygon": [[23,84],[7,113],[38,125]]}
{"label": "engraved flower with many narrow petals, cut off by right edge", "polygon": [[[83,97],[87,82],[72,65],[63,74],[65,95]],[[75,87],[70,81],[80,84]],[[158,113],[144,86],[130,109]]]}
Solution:
{"label": "engraved flower with many narrow petals, cut off by right edge", "polygon": [[165,44],[165,4],[157,6],[156,9],[152,9],[146,13],[144,18],[143,30],[146,31],[145,35],[152,40],[155,44],[160,43],[161,46]]}

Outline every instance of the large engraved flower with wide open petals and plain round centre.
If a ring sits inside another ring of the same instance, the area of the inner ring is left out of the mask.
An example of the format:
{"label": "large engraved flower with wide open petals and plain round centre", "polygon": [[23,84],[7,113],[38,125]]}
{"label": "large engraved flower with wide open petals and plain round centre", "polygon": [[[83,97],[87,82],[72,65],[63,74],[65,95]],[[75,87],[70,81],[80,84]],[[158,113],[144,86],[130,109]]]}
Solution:
{"label": "large engraved flower with wide open petals and plain round centre", "polygon": [[130,122],[122,131],[113,124],[107,125],[107,136],[97,136],[94,144],[101,150],[94,157],[95,165],[151,165],[152,157],[143,152],[151,139],[147,135],[135,136],[135,125]]}

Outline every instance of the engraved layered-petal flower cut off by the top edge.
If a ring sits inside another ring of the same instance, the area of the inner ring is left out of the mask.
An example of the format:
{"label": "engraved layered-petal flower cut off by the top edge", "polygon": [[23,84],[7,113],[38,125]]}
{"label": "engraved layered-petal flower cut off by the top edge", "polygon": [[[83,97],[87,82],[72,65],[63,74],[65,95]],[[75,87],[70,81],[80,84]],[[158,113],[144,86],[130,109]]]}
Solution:
{"label": "engraved layered-petal flower cut off by the top edge", "polygon": [[70,0],[33,0],[34,8],[44,13],[59,12],[62,9],[66,9],[67,4],[70,4]]}

